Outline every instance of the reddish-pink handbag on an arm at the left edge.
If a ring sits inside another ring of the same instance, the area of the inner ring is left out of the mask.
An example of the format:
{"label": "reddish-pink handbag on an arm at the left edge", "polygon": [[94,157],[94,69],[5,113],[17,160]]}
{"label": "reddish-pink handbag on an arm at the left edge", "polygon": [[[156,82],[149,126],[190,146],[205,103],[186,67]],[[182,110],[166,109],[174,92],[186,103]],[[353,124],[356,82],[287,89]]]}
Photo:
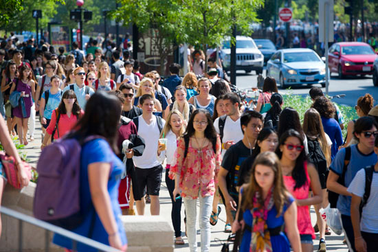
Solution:
{"label": "reddish-pink handbag on an arm at the left edge", "polygon": [[[3,168],[5,170],[5,174],[7,175],[7,180],[16,189],[21,189],[21,184],[17,179],[17,169],[16,165],[14,165],[14,157],[5,154],[5,152],[0,151],[0,160],[3,164]],[[27,179],[30,181],[32,179],[32,167],[29,163],[22,161],[23,167],[25,168],[25,173]]]}

